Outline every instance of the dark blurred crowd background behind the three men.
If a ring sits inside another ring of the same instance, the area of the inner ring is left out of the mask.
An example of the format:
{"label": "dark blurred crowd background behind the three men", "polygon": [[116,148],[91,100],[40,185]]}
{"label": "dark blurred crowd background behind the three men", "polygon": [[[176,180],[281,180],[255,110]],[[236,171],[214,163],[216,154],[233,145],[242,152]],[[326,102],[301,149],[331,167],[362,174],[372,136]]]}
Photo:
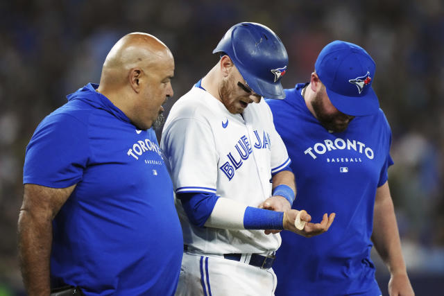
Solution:
{"label": "dark blurred crowd background behind the three men", "polygon": [[[167,115],[216,63],[212,50],[225,31],[241,21],[281,37],[287,88],[309,80],[318,52],[333,40],[372,55],[373,87],[393,131],[389,184],[409,275],[417,295],[442,295],[444,1],[15,0],[0,1],[0,296],[24,295],[17,262],[22,169],[44,116],[67,94],[98,83],[111,46],[133,31],[159,37],[175,56]],[[388,271],[373,258],[387,295]]]}

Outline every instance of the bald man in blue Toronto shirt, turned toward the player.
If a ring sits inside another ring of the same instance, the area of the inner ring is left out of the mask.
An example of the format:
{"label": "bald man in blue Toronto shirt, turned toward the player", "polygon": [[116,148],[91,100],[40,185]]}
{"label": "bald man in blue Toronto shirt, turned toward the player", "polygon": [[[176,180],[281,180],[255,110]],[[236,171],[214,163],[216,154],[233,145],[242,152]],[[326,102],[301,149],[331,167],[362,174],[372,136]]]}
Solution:
{"label": "bald man in blue Toronto shirt, turned toward the player", "polygon": [[[131,33],[26,148],[19,254],[28,295],[173,295],[182,230],[151,127],[173,96],[171,51]],[[74,295],[74,294],[71,294]],[[78,294],[76,294],[78,295]]]}

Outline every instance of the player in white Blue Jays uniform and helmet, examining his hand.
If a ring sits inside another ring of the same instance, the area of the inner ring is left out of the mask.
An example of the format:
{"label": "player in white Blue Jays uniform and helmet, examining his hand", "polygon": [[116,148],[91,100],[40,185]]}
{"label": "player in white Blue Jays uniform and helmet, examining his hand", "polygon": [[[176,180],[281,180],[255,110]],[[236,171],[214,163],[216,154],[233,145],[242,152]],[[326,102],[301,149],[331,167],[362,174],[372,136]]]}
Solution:
{"label": "player in white Blue Jays uniform and helmet, examining his hand", "polygon": [[221,60],[173,105],[162,132],[185,243],[176,295],[274,295],[278,232],[321,234],[334,214],[309,223],[305,211],[291,210],[290,159],[261,100],[284,97],[282,42],[241,23],[214,53]]}

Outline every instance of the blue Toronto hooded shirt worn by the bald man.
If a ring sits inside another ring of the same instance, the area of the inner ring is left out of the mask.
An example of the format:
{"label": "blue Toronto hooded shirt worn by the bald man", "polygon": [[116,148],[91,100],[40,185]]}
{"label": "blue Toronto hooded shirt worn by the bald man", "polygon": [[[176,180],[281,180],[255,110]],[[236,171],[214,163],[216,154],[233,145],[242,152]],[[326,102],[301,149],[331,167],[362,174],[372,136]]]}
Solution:
{"label": "blue Toronto hooded shirt worn by the bald man", "polygon": [[85,295],[173,295],[182,230],[155,132],[97,87],[69,95],[26,148],[24,184],[77,184],[53,220],[51,281]]}

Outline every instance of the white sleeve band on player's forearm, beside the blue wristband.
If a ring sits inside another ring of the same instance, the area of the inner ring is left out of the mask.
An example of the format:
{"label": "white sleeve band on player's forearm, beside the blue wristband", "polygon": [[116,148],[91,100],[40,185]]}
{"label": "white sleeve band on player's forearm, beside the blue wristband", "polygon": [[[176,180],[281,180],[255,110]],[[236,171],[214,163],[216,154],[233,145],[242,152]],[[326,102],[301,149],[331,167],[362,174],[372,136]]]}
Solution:
{"label": "white sleeve band on player's forearm, beside the blue wristband", "polygon": [[245,229],[244,214],[247,206],[229,198],[219,198],[205,222],[206,227],[222,229]]}

